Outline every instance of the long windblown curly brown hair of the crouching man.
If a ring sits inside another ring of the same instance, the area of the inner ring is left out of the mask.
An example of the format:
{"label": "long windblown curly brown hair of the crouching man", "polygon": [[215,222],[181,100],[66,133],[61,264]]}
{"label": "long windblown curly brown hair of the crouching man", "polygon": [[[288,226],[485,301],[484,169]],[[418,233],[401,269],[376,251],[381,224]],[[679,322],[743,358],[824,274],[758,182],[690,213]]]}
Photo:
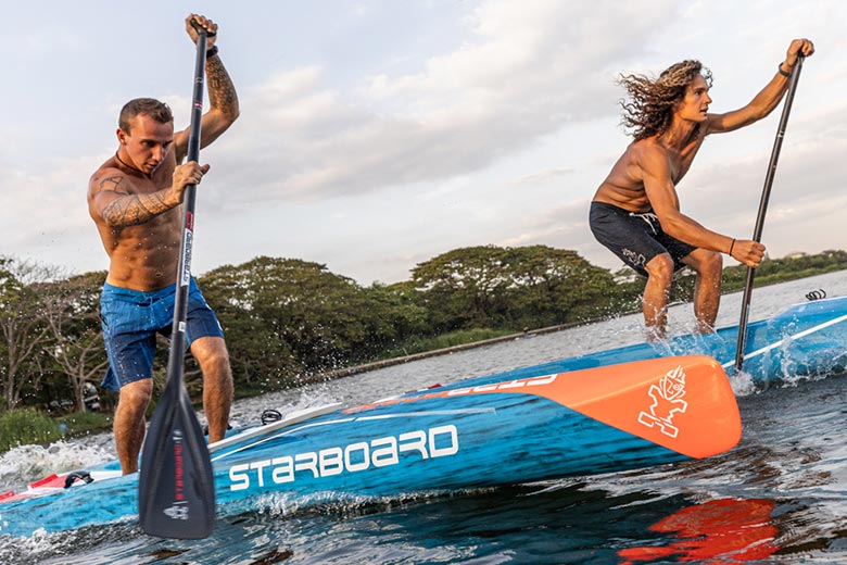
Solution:
{"label": "long windblown curly brown hair of the crouching man", "polygon": [[620,75],[617,83],[627,89],[630,98],[629,102],[620,100],[621,125],[633,129],[635,141],[663,134],[670,127],[673,105],[685,98],[688,85],[697,75],[711,88],[711,72],[699,61],[673,64],[655,80],[644,75]]}

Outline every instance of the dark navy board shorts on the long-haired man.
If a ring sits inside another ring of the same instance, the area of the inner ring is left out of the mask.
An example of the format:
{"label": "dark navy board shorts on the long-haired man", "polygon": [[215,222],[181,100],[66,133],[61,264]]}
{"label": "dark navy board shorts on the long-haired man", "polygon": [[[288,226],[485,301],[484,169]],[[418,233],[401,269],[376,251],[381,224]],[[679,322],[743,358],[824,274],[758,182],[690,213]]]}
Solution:
{"label": "dark navy board shorts on the long-haired man", "polygon": [[697,249],[662,231],[652,210],[639,214],[605,202],[592,202],[589,225],[597,241],[645,277],[644,266],[656,255],[669,253],[675,272],[685,266],[683,258]]}

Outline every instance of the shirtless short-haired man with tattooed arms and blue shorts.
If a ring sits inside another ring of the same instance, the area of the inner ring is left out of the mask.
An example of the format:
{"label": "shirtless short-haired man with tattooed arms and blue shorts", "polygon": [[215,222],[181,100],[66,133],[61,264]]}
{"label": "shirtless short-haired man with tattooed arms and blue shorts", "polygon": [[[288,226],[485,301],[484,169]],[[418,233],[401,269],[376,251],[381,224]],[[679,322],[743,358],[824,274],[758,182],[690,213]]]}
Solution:
{"label": "shirtless short-haired man with tattooed arms and blue shorts", "polygon": [[[236,121],[238,96],[217,54],[217,25],[190,14],[186,30],[197,45],[192,20],[208,32],[206,81],[210,109],[201,120],[208,146]],[[184,192],[199,184],[208,165],[185,164],[189,129],[174,133],[170,109],[154,99],[130,100],[121,111],[118,148],[91,176],[89,213],[110,258],[101,298],[103,338],[110,368],[103,386],[119,391],[114,417],[124,474],[138,470],[144,413],[153,392],[155,335],[167,335],[174,318]],[[208,439],[223,439],[232,401],[232,373],[220,325],[193,279],[189,287],[187,341],[203,372]]]}

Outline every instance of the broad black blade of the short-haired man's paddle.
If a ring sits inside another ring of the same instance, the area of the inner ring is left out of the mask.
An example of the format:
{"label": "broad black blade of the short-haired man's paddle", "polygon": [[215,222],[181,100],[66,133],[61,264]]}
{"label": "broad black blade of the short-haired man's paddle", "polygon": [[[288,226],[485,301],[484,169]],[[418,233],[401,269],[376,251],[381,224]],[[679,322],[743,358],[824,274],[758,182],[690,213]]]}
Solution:
{"label": "broad black blade of the short-haired man's paddle", "polygon": [[141,456],[141,529],[174,539],[207,538],[215,527],[215,479],[203,430],[181,380],[168,379]]}

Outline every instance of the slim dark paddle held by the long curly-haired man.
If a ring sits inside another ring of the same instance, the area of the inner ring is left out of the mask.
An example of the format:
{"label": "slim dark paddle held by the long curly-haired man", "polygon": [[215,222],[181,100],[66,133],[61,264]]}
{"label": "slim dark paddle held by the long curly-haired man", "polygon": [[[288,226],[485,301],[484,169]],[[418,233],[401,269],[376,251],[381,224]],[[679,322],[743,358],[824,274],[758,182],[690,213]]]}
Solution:
{"label": "slim dark paddle held by the long curly-haired man", "polygon": [[[797,90],[797,81],[800,79],[802,59],[802,53],[797,53],[797,63],[794,65],[794,68],[792,68],[792,76],[788,80],[785,105],[782,109],[782,117],[780,117],[780,127],[776,130],[776,139],[773,142],[771,161],[768,163],[768,174],[764,176],[764,188],[761,192],[759,214],[756,217],[756,227],[753,230],[753,239],[755,241],[761,241],[761,233],[764,228],[764,214],[768,211],[768,200],[771,197],[773,177],[776,174],[776,161],[780,159],[780,149],[782,149],[782,139],[785,136],[785,126],[788,124],[788,114],[792,111],[794,92]],[[741,373],[742,365],[744,364],[744,348],[747,344],[747,319],[749,317],[750,298],[753,297],[753,279],[755,276],[756,269],[747,267],[747,279],[744,281],[744,298],[742,299],[741,321],[738,322],[738,344],[735,349],[735,373]]]}

